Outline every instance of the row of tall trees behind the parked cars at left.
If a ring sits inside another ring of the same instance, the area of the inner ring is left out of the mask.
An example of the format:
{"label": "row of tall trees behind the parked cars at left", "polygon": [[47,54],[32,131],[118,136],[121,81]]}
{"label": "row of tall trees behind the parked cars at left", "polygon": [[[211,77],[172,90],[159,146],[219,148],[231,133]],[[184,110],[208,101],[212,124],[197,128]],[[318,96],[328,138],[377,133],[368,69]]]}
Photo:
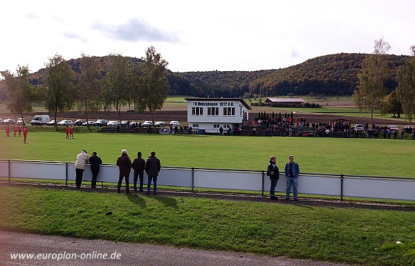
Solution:
{"label": "row of tall trees behind the parked cars at left", "polygon": [[46,74],[36,86],[30,82],[28,66],[18,66],[16,75],[10,70],[0,71],[6,84],[6,106],[11,113],[24,117],[33,111],[33,104],[43,104],[55,117],[55,125],[58,113],[73,108],[88,121],[89,113],[102,109],[115,108],[121,120],[122,106],[133,106],[140,113],[154,113],[163,107],[170,88],[168,63],[154,46],[147,48],[138,64],[119,54],[105,58],[101,62],[98,57],[82,54],[80,64],[73,68],[57,54],[48,59]]}

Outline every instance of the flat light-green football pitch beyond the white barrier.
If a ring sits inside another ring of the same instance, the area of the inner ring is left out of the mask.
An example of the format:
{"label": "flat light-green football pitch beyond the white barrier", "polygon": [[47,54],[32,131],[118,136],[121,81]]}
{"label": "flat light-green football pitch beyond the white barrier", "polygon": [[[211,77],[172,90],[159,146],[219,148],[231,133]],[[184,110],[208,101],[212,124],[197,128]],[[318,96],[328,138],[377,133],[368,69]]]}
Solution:
{"label": "flat light-green football pitch beyond the white barrier", "polygon": [[0,142],[3,159],[74,162],[85,149],[114,164],[122,149],[131,158],[138,151],[145,157],[154,150],[164,166],[264,170],[270,155],[277,157],[277,166],[283,169],[293,154],[304,173],[415,178],[413,140],[76,132],[75,139],[66,140],[64,132],[30,131],[28,144],[22,137],[4,134]]}

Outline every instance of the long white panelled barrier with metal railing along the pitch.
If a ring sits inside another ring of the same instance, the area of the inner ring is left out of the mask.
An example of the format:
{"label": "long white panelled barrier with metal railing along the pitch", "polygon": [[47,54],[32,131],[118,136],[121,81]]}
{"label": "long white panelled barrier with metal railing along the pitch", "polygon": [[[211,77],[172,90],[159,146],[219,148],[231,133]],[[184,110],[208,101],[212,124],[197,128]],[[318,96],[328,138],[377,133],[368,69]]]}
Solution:
{"label": "long white panelled barrier with metal railing along the pitch", "polygon": [[[74,162],[44,162],[0,160],[0,176],[45,180],[75,180]],[[84,181],[91,181],[91,169],[86,167]],[[118,167],[103,164],[98,182],[118,182]],[[131,171],[130,184],[133,183]],[[145,183],[147,175],[145,174]],[[268,195],[270,179],[264,171],[235,169],[201,169],[188,167],[162,167],[158,185],[170,187],[232,189],[261,191]],[[286,177],[280,173],[276,191],[286,191]],[[415,200],[415,178],[380,176],[329,175],[303,173],[298,178],[298,193],[360,198]]]}

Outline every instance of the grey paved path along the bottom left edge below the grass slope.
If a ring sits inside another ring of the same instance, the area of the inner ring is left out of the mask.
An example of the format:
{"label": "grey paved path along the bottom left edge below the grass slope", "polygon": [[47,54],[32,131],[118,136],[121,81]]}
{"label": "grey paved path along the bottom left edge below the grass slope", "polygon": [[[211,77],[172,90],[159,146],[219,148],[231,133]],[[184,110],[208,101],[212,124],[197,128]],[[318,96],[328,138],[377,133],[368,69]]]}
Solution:
{"label": "grey paved path along the bottom left edge below the grass slope", "polygon": [[[33,254],[12,259],[12,254]],[[74,255],[75,254],[75,255]],[[107,254],[108,259],[102,259]],[[39,259],[36,258],[39,256]],[[335,266],[310,260],[0,231],[1,265]],[[342,264],[342,266],[347,266]]]}

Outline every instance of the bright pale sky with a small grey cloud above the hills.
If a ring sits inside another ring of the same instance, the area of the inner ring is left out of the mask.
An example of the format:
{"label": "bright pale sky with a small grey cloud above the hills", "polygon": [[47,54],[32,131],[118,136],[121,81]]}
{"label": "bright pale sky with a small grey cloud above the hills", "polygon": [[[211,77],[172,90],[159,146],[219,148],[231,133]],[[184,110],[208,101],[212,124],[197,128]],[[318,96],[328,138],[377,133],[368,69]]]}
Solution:
{"label": "bright pale sky with a small grey cloud above the hills", "polygon": [[412,0],[20,0],[0,3],[0,70],[149,46],[173,72],[267,70],[337,53],[389,54],[415,45]]}

